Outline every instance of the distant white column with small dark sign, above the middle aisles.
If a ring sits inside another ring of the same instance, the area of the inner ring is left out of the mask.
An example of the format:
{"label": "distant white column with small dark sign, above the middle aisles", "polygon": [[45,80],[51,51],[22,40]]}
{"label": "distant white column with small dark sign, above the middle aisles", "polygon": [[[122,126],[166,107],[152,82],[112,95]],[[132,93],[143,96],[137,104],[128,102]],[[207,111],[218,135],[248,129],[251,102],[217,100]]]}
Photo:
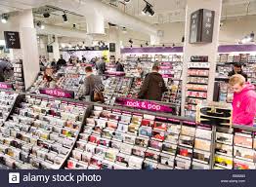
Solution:
{"label": "distant white column with small dark sign, above the middle aisles", "polygon": [[119,30],[116,27],[109,27],[109,56],[115,56],[116,59],[121,57],[121,46],[119,40]]}

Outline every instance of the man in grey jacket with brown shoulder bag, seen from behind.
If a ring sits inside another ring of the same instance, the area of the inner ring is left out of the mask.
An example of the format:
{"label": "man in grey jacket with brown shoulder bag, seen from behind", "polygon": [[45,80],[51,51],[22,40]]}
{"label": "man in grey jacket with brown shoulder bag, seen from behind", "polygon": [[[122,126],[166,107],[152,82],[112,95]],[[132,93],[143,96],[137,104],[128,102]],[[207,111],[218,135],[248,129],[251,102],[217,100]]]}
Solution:
{"label": "man in grey jacket with brown shoulder bag, seen from behind", "polygon": [[102,79],[98,75],[93,74],[93,68],[87,66],[85,68],[86,78],[84,82],[83,95],[90,96],[90,101],[94,101],[94,92],[104,92],[104,85]]}

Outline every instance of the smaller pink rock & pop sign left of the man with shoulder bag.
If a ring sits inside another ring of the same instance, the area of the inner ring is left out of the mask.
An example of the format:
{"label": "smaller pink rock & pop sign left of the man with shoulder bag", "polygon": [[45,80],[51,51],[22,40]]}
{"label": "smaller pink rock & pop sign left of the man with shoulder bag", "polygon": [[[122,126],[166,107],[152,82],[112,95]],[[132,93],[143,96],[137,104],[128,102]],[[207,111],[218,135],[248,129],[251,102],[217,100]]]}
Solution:
{"label": "smaller pink rock & pop sign left of the man with shoulder bag", "polygon": [[64,91],[62,89],[40,89],[41,94],[48,94],[51,96],[63,97],[63,98],[74,98],[73,91]]}

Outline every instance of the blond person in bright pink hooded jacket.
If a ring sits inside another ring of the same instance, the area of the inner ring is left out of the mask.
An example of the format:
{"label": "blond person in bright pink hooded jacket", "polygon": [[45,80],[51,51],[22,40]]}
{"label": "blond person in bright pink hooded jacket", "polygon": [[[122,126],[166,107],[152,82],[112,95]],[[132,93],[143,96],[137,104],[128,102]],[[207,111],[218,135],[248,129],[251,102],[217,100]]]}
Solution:
{"label": "blond person in bright pink hooded jacket", "polygon": [[233,124],[253,126],[256,116],[255,87],[246,83],[245,78],[239,74],[231,77],[230,85],[234,90]]}

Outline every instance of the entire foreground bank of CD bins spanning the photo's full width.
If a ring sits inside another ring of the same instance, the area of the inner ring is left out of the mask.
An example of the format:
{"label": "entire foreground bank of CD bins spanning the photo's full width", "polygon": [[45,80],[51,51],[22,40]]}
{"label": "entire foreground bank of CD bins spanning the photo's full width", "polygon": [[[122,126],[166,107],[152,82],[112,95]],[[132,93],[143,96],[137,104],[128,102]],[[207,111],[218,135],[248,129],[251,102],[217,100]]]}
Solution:
{"label": "entire foreground bank of CD bins spanning the photo's full width", "polygon": [[30,93],[13,99],[0,127],[1,168],[255,169],[255,128]]}

